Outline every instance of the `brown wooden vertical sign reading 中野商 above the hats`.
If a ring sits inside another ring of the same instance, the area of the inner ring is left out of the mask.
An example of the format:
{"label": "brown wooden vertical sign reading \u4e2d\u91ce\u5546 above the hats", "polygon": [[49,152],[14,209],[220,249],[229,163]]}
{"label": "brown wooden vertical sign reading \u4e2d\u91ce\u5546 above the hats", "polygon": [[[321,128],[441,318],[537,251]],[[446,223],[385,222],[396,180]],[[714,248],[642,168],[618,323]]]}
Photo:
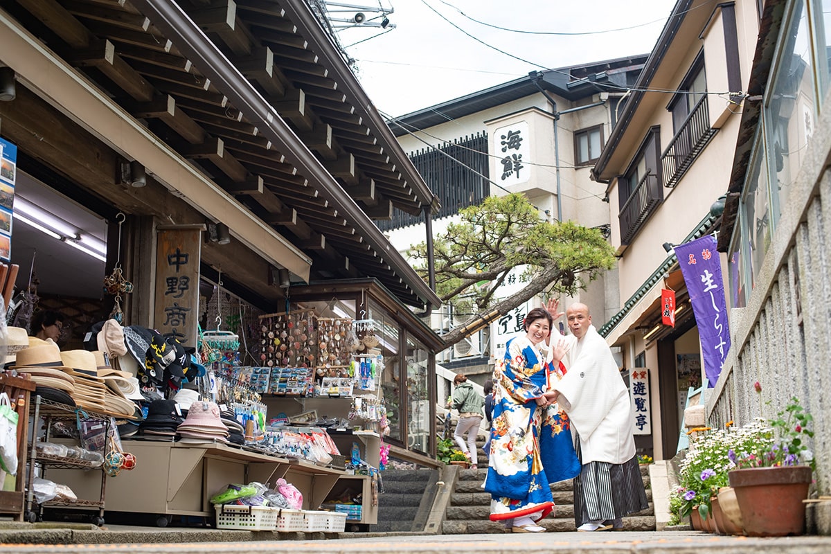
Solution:
{"label": "brown wooden vertical sign reading \u4e2d\u91ce\u5546 above the hats", "polygon": [[196,346],[204,225],[165,225],[157,231],[155,329]]}

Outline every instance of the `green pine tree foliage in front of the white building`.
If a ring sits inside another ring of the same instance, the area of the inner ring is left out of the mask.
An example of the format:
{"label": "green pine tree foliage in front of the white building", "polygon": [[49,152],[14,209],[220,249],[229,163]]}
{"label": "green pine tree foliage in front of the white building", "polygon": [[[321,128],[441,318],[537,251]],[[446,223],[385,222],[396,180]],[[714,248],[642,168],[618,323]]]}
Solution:
{"label": "green pine tree foliage in front of the white building", "polygon": [[[493,303],[494,290],[514,267],[524,277],[556,270],[538,292],[574,294],[614,266],[612,247],[598,229],[572,221],[548,223],[522,194],[490,196],[461,210],[434,241],[436,292],[457,311],[470,313]],[[426,243],[413,247],[416,270],[427,279]]]}

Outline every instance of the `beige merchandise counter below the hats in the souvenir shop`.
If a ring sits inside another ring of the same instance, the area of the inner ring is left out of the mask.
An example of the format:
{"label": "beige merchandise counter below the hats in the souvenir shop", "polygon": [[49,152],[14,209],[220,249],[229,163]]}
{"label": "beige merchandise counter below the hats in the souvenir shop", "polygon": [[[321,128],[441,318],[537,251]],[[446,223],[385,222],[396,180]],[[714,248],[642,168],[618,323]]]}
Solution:
{"label": "beige merchandise counter below the hats in the souvenir shop", "polygon": [[[172,441],[123,440],[125,452],[135,455],[135,469],[122,471],[107,481],[107,511],[157,514],[156,524],[165,527],[170,517],[214,517],[210,498],[229,483],[273,483],[284,478],[302,493],[303,509],[317,510],[342,469],[279,458],[220,443],[180,444]],[[54,470],[54,479],[69,485],[79,495],[95,490],[91,475]]]}

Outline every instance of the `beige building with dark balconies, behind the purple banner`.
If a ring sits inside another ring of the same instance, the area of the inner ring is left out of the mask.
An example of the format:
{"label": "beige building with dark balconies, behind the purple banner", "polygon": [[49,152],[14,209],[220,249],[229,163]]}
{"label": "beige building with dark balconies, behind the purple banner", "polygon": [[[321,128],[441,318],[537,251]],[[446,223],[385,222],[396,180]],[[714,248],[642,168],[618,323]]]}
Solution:
{"label": "beige building with dark balconies, behind the purple banner", "polygon": [[[676,2],[592,170],[607,184],[621,299],[594,321],[647,380],[637,447],[656,459],[675,455],[687,390],[702,383],[673,247],[718,229],[711,207],[730,179],[757,29],[755,2]],[[674,326],[662,323],[661,290],[675,292]]]}

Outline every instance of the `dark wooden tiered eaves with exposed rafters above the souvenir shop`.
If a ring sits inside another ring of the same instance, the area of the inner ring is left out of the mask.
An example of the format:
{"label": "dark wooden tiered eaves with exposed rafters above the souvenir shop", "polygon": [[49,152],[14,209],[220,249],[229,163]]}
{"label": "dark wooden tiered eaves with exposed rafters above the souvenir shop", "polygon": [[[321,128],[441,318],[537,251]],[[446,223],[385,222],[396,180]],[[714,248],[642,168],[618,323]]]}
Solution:
{"label": "dark wooden tiered eaves with exposed rafters above the souvenir shop", "polygon": [[[407,305],[439,303],[373,223],[393,208],[434,213],[438,202],[307,2],[27,0],[13,13],[14,26],[48,29],[42,55],[147,131],[116,150],[249,248],[268,260],[293,248],[294,262],[277,262],[304,281],[374,277]],[[38,81],[22,61],[2,60]],[[144,147],[150,137],[155,149]],[[155,154],[165,149],[175,155],[163,163]]]}

